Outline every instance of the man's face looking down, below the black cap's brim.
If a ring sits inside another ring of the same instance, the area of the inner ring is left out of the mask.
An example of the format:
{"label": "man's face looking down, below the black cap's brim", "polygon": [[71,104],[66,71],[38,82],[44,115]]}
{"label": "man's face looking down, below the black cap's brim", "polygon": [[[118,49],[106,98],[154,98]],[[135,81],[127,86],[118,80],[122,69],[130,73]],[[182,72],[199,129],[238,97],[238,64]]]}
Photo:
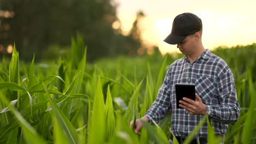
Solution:
{"label": "man's face looking down, below the black cap's brim", "polygon": [[179,51],[183,53],[183,55],[190,55],[193,52],[194,43],[194,34],[188,35],[181,43],[177,44],[177,48]]}

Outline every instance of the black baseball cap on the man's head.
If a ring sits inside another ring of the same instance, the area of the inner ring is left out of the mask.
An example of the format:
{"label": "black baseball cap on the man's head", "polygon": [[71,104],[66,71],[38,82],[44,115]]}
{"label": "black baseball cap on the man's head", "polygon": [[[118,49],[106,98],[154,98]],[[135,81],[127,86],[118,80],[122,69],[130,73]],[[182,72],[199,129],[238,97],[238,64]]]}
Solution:
{"label": "black baseball cap on the man's head", "polygon": [[199,32],[202,29],[202,21],[192,13],[177,15],[172,23],[172,32],[165,38],[165,42],[171,45],[181,43],[188,35]]}

